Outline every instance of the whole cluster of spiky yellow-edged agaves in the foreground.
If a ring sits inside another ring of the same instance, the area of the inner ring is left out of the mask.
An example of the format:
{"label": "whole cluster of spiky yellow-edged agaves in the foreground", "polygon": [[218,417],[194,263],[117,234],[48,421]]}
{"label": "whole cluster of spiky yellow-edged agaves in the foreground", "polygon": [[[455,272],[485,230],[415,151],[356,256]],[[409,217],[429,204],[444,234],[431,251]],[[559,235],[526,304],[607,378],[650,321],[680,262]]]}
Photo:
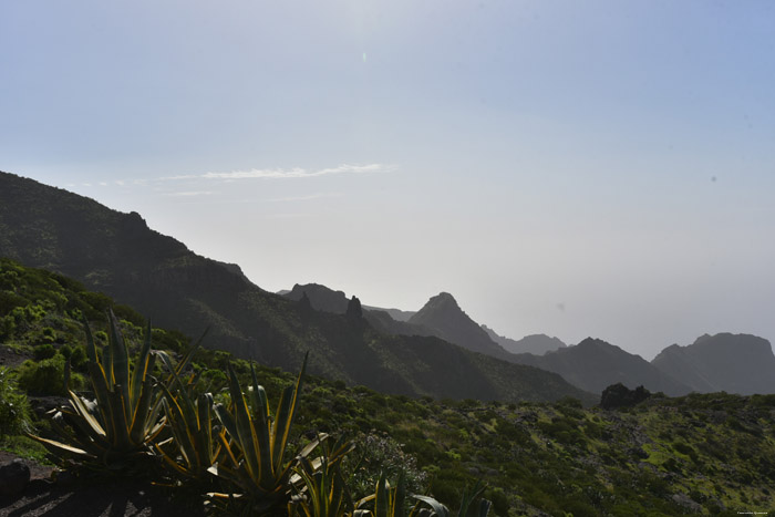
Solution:
{"label": "whole cluster of spiky yellow-edged agaves in the foreground", "polygon": [[[409,497],[403,476],[391,488],[382,475],[373,494],[353,502],[341,469],[353,443],[332,443],[329,435],[318,434],[289,454],[303,366],[296,384],[282,391],[273,413],[254,368],[246,396],[228,364],[229,402],[215,403],[213,393],[200,387],[200,373],[184,373],[197,347],[174,363],[166,352],[152,351],[148,327],[131,360],[112,311],[105,347],[99,349],[89,324],[84,328],[94,400],[68,387],[70,406],[56,411],[52,420],[59,440],[31,435],[62,463],[74,458],[80,468],[140,476],[162,458],[169,467],[167,479],[187,483],[188,489],[227,488],[206,494],[207,503],[227,514],[404,515]],[[154,375],[157,358],[165,366],[161,379]],[[464,496],[462,515],[468,514],[480,493],[477,487]],[[432,497],[412,497],[417,503],[410,515],[448,514]],[[489,503],[482,500],[478,515],[486,515],[488,508]]]}

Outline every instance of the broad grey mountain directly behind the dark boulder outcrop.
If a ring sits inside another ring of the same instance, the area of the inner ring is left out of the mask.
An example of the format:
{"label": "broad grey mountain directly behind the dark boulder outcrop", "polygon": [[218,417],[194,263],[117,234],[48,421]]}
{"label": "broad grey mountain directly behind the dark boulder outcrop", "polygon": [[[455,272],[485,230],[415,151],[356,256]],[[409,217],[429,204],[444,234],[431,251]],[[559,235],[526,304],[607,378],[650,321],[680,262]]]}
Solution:
{"label": "broad grey mountain directly behind the dark boulder outcrop", "polygon": [[593,393],[601,393],[617,383],[630,389],[643,385],[647,390],[668,395],[683,395],[692,391],[640,355],[592,338],[544,355],[524,353],[515,358],[521,364],[559,373],[569,383]]}

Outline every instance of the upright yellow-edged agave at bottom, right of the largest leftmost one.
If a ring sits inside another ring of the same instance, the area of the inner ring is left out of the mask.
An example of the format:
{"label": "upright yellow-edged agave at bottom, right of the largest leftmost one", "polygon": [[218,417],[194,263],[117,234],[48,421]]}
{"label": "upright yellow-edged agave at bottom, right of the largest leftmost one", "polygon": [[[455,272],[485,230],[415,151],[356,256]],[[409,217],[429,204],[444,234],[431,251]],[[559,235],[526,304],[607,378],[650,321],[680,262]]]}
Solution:
{"label": "upright yellow-edged agave at bottom, right of the largest leftmost one", "polygon": [[293,467],[319,444],[319,440],[316,440],[293,458],[286,459],[306,368],[307,356],[296,384],[283,390],[272,417],[266,391],[258,384],[252,365],[252,385],[249,390],[252,411],[241,392],[234,368],[228,365],[231,404],[229,407],[224,404],[215,407],[218,420],[224,425],[218,434],[221,455],[218,464],[209,471],[235,485],[239,494],[210,494],[217,505],[231,509],[237,506],[251,515],[285,511],[292,493]]}

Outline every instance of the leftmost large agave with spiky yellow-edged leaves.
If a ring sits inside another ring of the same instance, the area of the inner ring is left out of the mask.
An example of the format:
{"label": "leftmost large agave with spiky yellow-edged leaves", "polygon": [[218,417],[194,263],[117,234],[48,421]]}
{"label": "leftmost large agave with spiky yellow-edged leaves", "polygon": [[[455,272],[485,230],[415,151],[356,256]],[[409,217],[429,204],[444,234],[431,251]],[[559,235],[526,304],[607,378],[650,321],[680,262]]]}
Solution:
{"label": "leftmost large agave with spiky yellow-edged leaves", "polygon": [[[95,399],[90,401],[68,389],[70,407],[55,411],[52,421],[62,441],[32,437],[60,458],[74,456],[85,466],[127,472],[152,455],[151,444],[165,424],[162,390],[151,375],[159,352],[151,350],[148,324],[133,370],[128,348],[112,311],[107,313],[107,323],[108,342],[100,359],[84,319],[89,378]],[[194,349],[178,363],[177,373],[185,368]],[[172,376],[167,382],[172,382]]]}

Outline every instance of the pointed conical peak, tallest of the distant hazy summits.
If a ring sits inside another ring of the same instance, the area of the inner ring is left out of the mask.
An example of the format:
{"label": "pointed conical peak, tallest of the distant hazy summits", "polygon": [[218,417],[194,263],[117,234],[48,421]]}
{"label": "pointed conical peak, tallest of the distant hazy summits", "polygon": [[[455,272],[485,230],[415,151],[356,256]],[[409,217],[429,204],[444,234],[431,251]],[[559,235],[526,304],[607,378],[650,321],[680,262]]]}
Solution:
{"label": "pointed conical peak, tallest of the distant hazy summits", "polygon": [[423,325],[444,341],[471,351],[513,361],[512,354],[489,339],[487,332],[461,309],[448,292],[431,298],[409,322]]}

